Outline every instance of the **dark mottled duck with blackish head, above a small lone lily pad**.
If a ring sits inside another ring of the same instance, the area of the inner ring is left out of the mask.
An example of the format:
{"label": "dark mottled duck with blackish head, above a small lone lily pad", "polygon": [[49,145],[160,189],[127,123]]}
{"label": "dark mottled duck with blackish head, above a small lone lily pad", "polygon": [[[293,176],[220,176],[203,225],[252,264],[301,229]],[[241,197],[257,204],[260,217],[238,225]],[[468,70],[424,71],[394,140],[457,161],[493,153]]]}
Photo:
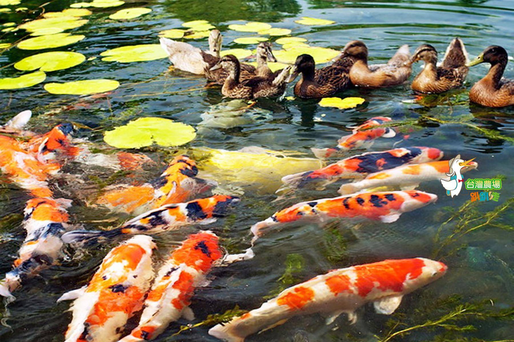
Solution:
{"label": "dark mottled duck with blackish head, above a small lone lily pad", "polygon": [[352,64],[351,59],[340,55],[334,59],[332,65],[316,69],[313,56],[301,54],[296,58],[287,82],[294,81],[301,73],[302,77],[295,85],[296,96],[302,98],[332,96],[350,85],[348,72]]}

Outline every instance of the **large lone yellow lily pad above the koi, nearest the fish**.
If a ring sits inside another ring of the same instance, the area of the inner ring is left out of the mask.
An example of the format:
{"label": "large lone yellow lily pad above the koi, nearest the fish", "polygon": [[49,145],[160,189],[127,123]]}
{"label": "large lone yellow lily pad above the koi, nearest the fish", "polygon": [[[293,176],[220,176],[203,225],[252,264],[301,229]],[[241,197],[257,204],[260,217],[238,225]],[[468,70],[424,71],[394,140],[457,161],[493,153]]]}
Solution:
{"label": "large lone yellow lily pad above the koi, nearest the fish", "polygon": [[196,137],[192,126],[162,117],[141,117],[104,134],[104,141],[117,148],[141,148],[154,142],[161,146],[180,146]]}

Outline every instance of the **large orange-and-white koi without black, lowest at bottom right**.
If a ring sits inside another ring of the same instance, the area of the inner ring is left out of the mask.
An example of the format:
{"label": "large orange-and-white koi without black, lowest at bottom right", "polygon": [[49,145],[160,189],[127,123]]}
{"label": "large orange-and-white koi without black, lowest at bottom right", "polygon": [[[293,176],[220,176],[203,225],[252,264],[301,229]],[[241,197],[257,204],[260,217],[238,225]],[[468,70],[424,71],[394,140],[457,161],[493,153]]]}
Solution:
{"label": "large orange-and-white koi without black, lowest at bottom right", "polygon": [[419,257],[333,270],[282,291],[229,323],[214,326],[209,335],[243,342],[248,335],[284,324],[291,317],[317,312],[328,316],[326,324],[332,324],[341,313],[354,324],[355,311],[366,303],[373,303],[377,313],[390,315],[404,295],[439,279],[446,270],[439,261]]}

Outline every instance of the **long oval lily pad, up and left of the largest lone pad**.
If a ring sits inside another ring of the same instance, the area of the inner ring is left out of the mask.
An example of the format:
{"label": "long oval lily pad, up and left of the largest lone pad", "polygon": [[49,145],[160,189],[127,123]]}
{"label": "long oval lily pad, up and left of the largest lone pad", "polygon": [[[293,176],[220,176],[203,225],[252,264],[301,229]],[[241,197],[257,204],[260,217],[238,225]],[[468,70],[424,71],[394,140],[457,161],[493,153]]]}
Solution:
{"label": "long oval lily pad, up and left of the largest lone pad", "polygon": [[50,94],[89,95],[111,91],[120,86],[114,79],[86,79],[65,83],[47,83],[45,90]]}

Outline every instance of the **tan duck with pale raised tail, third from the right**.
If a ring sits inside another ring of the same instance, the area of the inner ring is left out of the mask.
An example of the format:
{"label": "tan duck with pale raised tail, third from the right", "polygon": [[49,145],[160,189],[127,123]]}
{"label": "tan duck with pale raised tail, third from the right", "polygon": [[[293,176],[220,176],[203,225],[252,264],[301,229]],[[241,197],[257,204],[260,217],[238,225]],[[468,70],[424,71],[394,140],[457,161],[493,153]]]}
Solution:
{"label": "tan duck with pale raised tail, third from the right", "polygon": [[396,86],[405,82],[412,71],[408,45],[401,46],[387,64],[368,65],[368,48],[361,41],[346,44],[343,54],[354,61],[350,79],[359,87]]}

